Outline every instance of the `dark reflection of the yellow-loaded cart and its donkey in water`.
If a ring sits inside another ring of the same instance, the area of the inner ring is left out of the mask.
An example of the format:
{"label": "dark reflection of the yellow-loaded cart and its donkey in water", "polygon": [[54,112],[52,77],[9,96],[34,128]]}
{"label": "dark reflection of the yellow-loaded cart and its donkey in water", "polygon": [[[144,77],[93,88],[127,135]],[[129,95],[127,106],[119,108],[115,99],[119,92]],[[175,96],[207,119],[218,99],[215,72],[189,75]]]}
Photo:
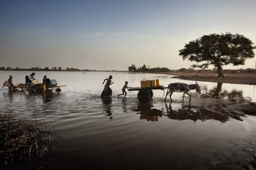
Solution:
{"label": "dark reflection of the yellow-loaded cart and its donkey in water", "polygon": [[213,108],[202,108],[200,106],[192,106],[190,103],[176,103],[172,106],[171,103],[163,106],[161,109],[156,109],[153,104],[141,103],[133,111],[139,111],[137,114],[141,114],[140,119],[146,119],[147,121],[158,121],[158,117],[168,117],[178,121],[191,120],[194,123],[197,120],[217,120],[221,123],[229,121],[231,118],[239,121],[243,121],[244,115],[229,112],[227,110],[219,110]]}

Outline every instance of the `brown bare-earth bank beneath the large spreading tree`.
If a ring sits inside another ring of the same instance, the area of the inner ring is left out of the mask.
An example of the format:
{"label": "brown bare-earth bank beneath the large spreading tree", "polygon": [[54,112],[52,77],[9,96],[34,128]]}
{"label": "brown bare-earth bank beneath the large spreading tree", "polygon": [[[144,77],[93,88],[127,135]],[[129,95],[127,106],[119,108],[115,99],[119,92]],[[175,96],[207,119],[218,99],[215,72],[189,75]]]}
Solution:
{"label": "brown bare-earth bank beneath the large spreading tree", "polygon": [[213,73],[197,74],[198,77],[195,77],[196,73],[158,72],[157,74],[174,75],[175,78],[183,80],[256,85],[256,74],[224,74],[225,78],[218,78],[218,75]]}

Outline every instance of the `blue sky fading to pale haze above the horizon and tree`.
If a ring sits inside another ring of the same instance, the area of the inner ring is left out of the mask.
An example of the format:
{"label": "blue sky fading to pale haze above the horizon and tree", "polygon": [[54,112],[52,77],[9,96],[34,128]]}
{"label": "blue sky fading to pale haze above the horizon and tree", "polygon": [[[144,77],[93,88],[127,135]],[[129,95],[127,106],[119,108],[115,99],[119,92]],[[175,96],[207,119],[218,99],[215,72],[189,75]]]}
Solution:
{"label": "blue sky fading to pale haze above the horizon and tree", "polygon": [[222,32],[256,43],[256,0],[1,0],[0,66],[189,68],[179,50]]}

